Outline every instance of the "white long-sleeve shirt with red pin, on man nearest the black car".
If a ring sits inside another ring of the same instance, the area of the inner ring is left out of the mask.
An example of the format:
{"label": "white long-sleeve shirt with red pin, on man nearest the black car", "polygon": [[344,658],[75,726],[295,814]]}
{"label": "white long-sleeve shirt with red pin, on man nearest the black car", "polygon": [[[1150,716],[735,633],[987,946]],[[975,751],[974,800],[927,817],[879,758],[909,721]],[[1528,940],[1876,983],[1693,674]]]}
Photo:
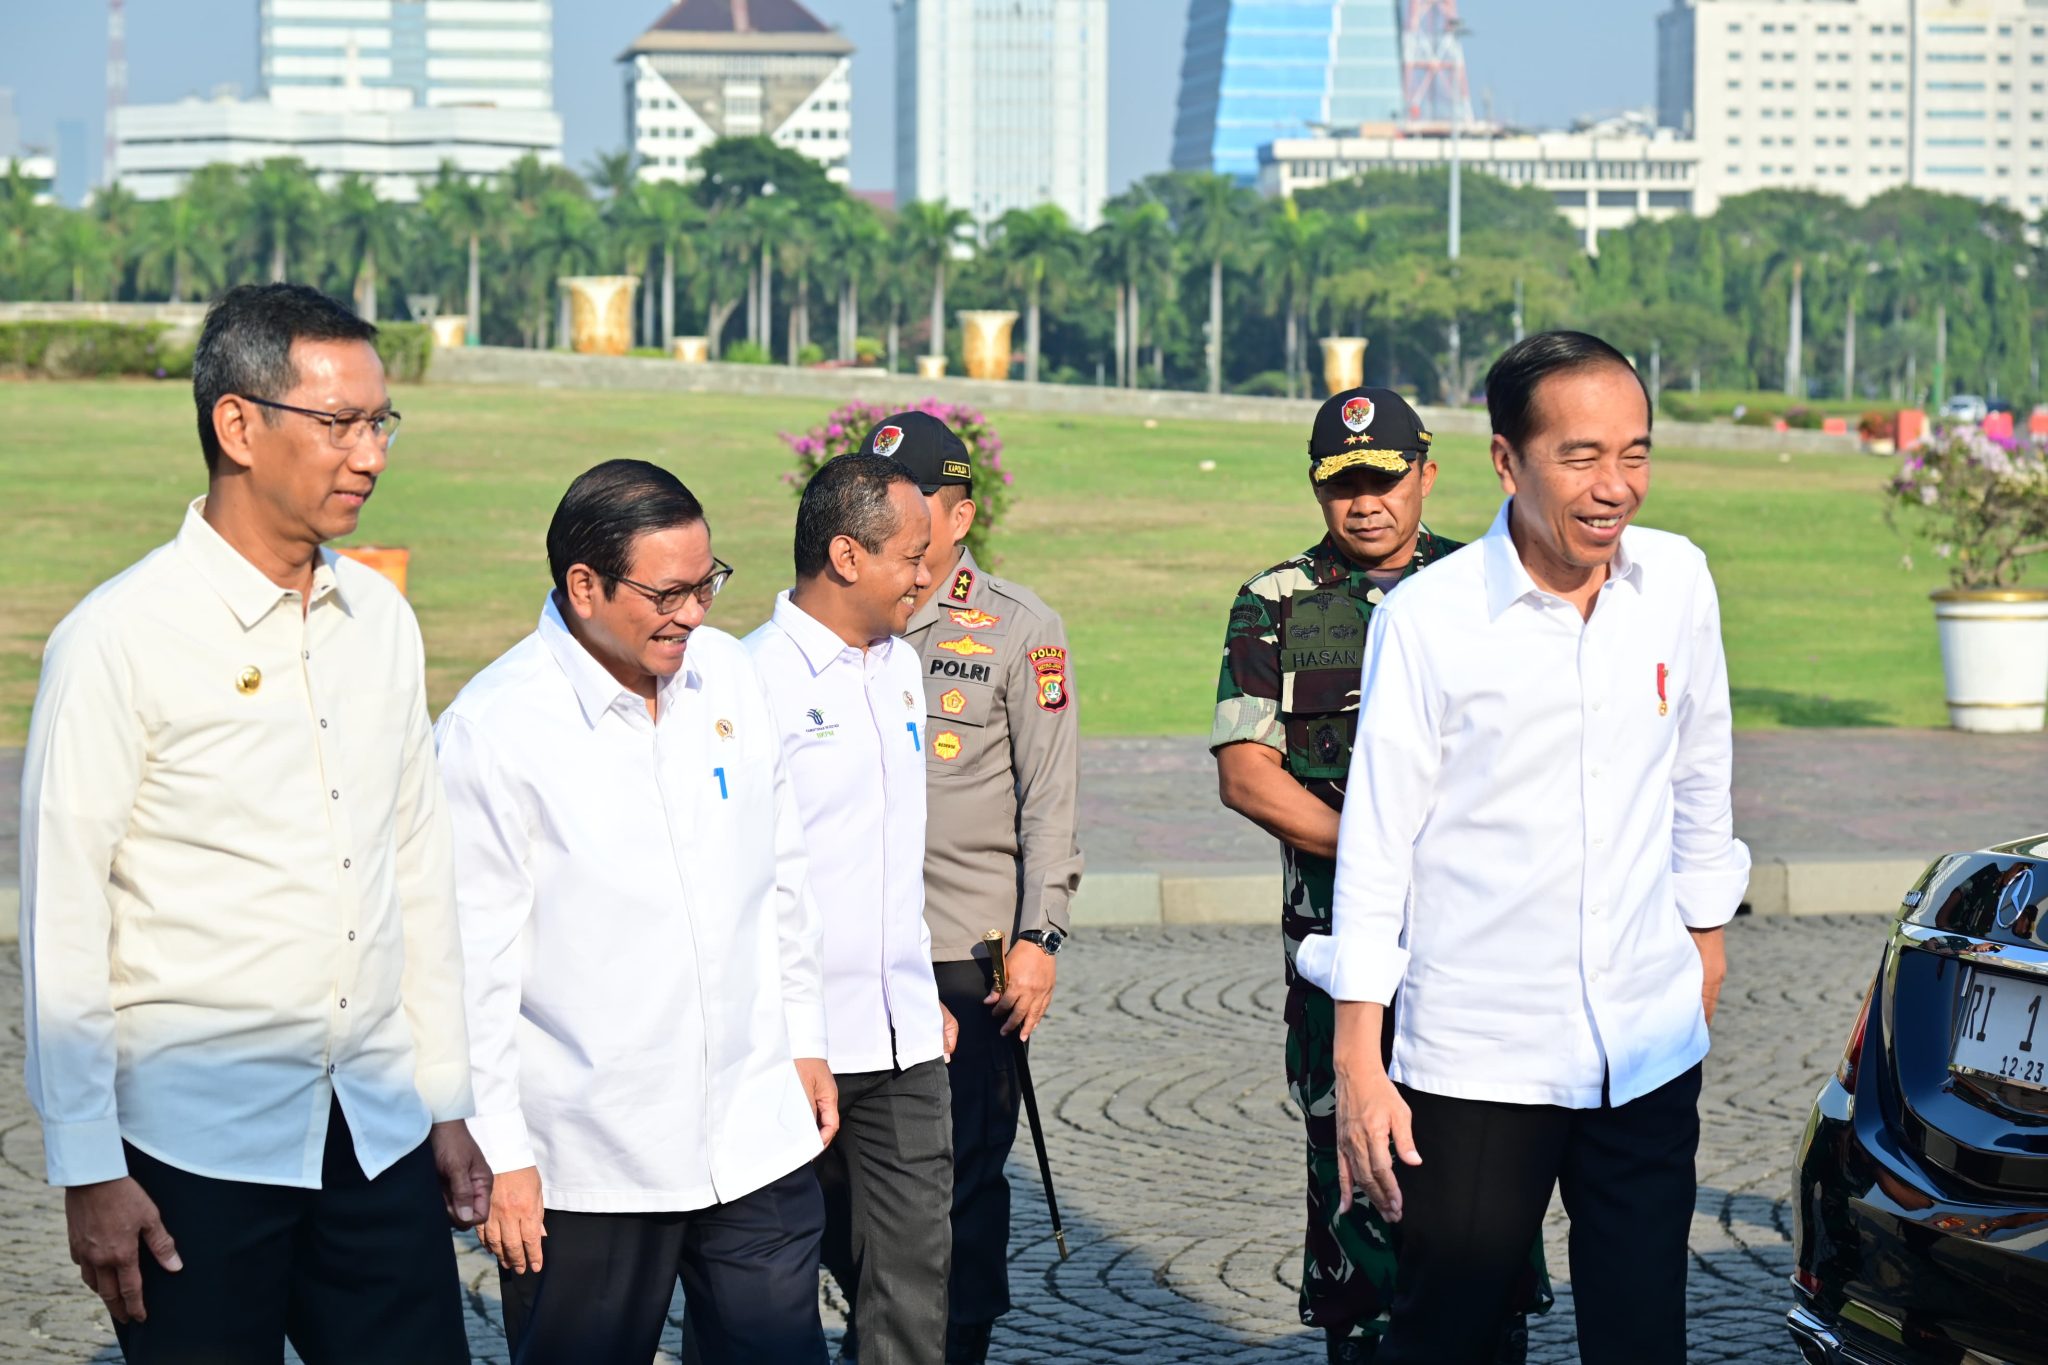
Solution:
{"label": "white long-sleeve shirt with red pin, on man nearest the black car", "polygon": [[1294,966],[1339,1001],[1401,993],[1395,1081],[1589,1109],[1706,1056],[1690,929],[1749,884],[1706,557],[1642,526],[1591,618],[1507,534],[1372,614],[1337,833],[1333,933]]}

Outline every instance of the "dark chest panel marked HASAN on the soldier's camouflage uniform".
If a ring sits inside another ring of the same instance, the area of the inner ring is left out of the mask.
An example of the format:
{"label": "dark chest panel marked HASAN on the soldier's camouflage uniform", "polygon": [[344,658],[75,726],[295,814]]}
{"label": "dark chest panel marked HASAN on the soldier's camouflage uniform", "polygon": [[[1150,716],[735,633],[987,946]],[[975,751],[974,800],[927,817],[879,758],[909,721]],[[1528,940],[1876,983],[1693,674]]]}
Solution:
{"label": "dark chest panel marked HASAN on the soldier's camouflage uniform", "polygon": [[1280,712],[1286,767],[1296,778],[1341,780],[1350,772],[1366,610],[1341,587],[1288,596],[1280,606]]}

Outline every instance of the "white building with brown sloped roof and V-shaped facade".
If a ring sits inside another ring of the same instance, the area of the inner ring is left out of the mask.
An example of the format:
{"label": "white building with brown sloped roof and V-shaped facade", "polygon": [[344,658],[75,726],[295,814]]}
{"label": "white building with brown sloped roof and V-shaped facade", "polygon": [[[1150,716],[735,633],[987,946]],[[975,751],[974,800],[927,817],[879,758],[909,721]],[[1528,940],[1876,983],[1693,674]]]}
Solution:
{"label": "white building with brown sloped roof and V-shaped facade", "polygon": [[719,137],[772,137],[846,184],[852,55],[799,0],[678,0],[621,57],[641,178],[688,180]]}

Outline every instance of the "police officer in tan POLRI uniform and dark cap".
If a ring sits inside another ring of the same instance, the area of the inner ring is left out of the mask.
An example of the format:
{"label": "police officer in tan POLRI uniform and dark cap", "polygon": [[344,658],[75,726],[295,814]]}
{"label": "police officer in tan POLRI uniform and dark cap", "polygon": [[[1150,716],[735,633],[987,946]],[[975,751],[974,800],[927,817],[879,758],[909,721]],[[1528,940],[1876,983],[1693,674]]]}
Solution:
{"label": "police officer in tan POLRI uniform and dark cap", "polygon": [[[905,639],[924,663],[928,817],[924,919],[938,999],[961,1021],[952,1054],[952,1295],[946,1361],[987,1359],[1010,1312],[1016,1054],[1053,999],[1075,841],[1079,722],[1067,630],[1026,587],[975,563],[973,460],[922,411],[883,420],[862,450],[899,460],[932,508],[932,587]],[[983,933],[1001,929],[1001,997]],[[842,1281],[844,1283],[844,1281]]]}

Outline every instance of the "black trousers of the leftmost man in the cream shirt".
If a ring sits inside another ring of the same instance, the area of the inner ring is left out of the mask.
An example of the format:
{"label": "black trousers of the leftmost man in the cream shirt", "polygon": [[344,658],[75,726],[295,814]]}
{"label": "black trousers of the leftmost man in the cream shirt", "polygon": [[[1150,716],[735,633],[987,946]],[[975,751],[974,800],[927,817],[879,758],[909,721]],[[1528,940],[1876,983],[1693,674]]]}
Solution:
{"label": "black trousers of the leftmost man in the cream shirt", "polygon": [[319,1189],[193,1175],[127,1148],[184,1269],[141,1252],[145,1322],[117,1324],[129,1365],[467,1361],[463,1289],[428,1144],[375,1181],[336,1103]]}

